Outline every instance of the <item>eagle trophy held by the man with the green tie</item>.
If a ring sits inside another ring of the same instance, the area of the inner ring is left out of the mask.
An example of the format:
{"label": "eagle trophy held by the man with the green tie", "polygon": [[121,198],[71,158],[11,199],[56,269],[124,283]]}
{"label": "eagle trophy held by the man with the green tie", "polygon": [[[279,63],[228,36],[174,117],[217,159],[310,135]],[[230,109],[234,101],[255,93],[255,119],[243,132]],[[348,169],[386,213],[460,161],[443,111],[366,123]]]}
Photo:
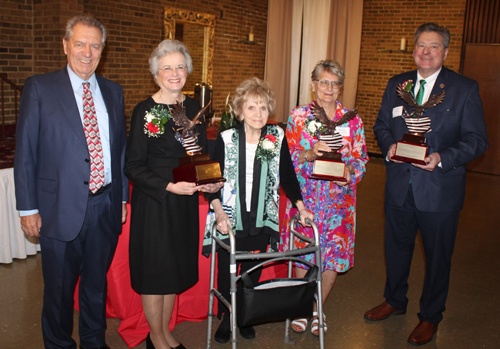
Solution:
{"label": "eagle trophy held by the man with the green tie", "polygon": [[408,133],[403,135],[403,138],[396,143],[396,152],[392,156],[393,160],[409,162],[413,164],[426,165],[425,158],[427,157],[427,139],[424,134],[431,130],[431,119],[428,116],[422,116],[425,109],[435,107],[443,102],[446,95],[445,91],[429,98],[427,102],[418,105],[415,102],[410,91],[405,90],[403,85],[399,84],[397,88],[398,96],[403,99],[410,107],[413,107],[413,112],[408,112],[403,107],[402,117],[408,128]]}

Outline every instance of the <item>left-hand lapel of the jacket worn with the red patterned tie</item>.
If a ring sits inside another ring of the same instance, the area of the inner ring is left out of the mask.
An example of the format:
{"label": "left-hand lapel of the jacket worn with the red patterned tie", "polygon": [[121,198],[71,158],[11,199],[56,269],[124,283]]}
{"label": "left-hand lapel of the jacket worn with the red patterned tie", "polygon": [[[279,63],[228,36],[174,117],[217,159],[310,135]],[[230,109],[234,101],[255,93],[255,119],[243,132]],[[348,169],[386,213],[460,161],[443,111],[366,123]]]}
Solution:
{"label": "left-hand lapel of the jacket worn with the red patterned tie", "polygon": [[76,105],[75,94],[73,93],[73,87],[71,86],[71,81],[69,80],[67,68],[64,67],[58,76],[57,86],[54,89],[54,93],[59,96],[59,101],[64,109],[64,112],[69,120],[69,123],[78,135],[78,138],[87,146],[87,140],[85,139],[85,133],[83,131],[82,119],[80,118],[80,112],[78,111],[78,106]]}

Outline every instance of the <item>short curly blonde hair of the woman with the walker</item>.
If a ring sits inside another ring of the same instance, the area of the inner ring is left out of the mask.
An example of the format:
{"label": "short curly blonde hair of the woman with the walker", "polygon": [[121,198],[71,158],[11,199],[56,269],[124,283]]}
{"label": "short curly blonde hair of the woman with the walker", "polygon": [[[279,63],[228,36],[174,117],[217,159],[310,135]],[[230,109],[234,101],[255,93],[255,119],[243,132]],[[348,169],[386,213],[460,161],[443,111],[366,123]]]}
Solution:
{"label": "short curly blonde hair of the woman with the walker", "polygon": [[267,81],[260,80],[259,78],[250,78],[243,81],[240,86],[234,90],[233,94],[233,110],[234,114],[238,119],[242,119],[241,114],[243,113],[243,104],[247,102],[250,98],[256,100],[261,100],[267,104],[269,109],[269,115],[274,113],[276,108],[276,99],[274,98],[274,92],[271,90],[271,86]]}

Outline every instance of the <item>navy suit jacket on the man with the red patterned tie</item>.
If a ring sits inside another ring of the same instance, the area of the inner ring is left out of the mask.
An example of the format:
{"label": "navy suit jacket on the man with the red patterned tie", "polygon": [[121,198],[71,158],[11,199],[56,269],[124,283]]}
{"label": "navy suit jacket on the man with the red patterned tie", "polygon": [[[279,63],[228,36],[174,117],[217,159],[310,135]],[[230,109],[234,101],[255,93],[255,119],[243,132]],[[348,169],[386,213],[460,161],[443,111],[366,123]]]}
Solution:
{"label": "navy suit jacket on the man with the red patterned tie", "polygon": [[[109,117],[111,224],[121,231],[122,202],[128,201],[123,174],[126,148],[121,86],[97,76]],[[67,68],[26,80],[16,130],[14,177],[18,210],[38,209],[40,234],[71,241],[83,224],[89,196],[90,162]]]}

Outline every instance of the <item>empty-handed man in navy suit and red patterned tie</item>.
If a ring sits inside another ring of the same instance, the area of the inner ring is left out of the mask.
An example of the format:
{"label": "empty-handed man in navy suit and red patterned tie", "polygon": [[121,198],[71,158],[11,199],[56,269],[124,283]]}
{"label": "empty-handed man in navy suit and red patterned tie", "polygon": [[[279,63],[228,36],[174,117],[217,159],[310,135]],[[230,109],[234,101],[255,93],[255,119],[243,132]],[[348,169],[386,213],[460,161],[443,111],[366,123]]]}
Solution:
{"label": "empty-handed man in navy suit and red patterned tie", "polygon": [[126,129],[120,85],[97,76],[106,28],[68,21],[68,64],[26,80],[16,133],[17,209],[39,237],[46,348],[76,348],[73,295],[80,276],[80,348],[108,348],[106,272],[127,210]]}

